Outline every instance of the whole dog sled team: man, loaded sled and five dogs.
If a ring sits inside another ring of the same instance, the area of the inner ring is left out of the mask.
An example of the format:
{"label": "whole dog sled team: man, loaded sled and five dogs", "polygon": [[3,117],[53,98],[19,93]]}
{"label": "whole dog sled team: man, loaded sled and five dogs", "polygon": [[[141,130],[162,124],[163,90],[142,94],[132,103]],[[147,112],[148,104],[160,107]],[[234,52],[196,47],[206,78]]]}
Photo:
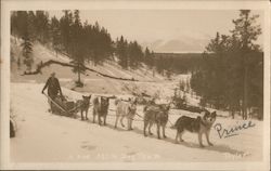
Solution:
{"label": "whole dog sled team: man, loaded sled and five dogs", "polygon": [[[55,73],[51,74],[51,77],[48,79],[44,88],[42,89],[42,94],[44,94],[44,90],[48,89],[48,102],[50,104],[50,111],[53,114],[64,114],[75,116],[78,111],[81,115],[81,120],[89,120],[88,111],[90,107],[91,95],[85,96],[82,95],[82,100],[78,100],[74,102],[67,102],[62,94],[62,90],[59,83],[57,78],[55,77]],[[60,93],[60,95],[59,95]],[[106,96],[95,96],[93,97],[92,105],[92,115],[94,123],[98,118],[98,123],[100,126],[106,126],[106,117],[108,115],[109,108],[109,98]],[[127,120],[127,129],[132,130],[132,122],[134,120],[134,116],[137,114],[137,98],[129,98],[129,101],[124,101],[120,98],[115,100],[116,105],[116,120],[115,128],[118,127],[118,122],[120,122],[121,127],[125,127],[124,119]],[[166,135],[166,126],[168,123],[168,115],[170,109],[169,104],[155,104],[154,101],[150,101],[147,105],[143,108],[143,134],[144,136],[153,135],[152,127],[156,126],[157,139],[160,139],[160,133],[164,139]],[[191,118],[188,116],[181,116],[177,119],[176,123],[171,127],[177,130],[176,133],[176,143],[183,142],[182,135],[185,131],[196,133],[198,136],[198,144],[201,147],[204,147],[202,136],[205,135],[208,145],[212,146],[209,141],[210,129],[216,121],[217,114],[216,111],[210,113],[208,110],[204,110],[202,117]]]}

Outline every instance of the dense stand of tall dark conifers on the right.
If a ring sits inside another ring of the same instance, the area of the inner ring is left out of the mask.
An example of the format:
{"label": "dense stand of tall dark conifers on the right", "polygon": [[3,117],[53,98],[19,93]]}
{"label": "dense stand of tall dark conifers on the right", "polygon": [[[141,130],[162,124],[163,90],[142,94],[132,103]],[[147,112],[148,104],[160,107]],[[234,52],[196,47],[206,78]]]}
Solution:
{"label": "dense stand of tall dark conifers on the right", "polygon": [[247,119],[249,109],[263,110],[263,53],[255,42],[261,34],[258,15],[241,10],[230,35],[217,32],[203,53],[201,68],[192,74],[191,88],[203,106],[229,109]]}

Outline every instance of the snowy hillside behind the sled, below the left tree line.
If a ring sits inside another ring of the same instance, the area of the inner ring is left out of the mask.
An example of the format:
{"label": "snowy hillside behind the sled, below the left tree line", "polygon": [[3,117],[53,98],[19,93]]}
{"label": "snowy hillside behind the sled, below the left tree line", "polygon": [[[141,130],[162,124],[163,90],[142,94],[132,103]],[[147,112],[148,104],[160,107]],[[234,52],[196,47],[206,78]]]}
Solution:
{"label": "snowy hillside behind the sled, below the left tree line", "polygon": [[[77,74],[74,74],[72,71],[72,68],[69,67],[62,67],[56,64],[52,64],[49,67],[43,68],[41,71],[42,74],[39,75],[26,75],[22,76],[22,74],[25,70],[25,67],[23,64],[21,64],[21,67],[17,66],[17,58],[21,57],[22,63],[22,47],[21,40],[15,39],[14,37],[11,37],[11,51],[13,53],[13,62],[11,63],[11,81],[12,82],[46,82],[48,77],[52,71],[56,73],[56,77],[61,81],[61,86],[65,87],[67,89],[73,89],[80,92],[90,92],[90,93],[104,93],[104,94],[131,94],[131,91],[134,91],[134,89],[138,89],[138,93],[149,93],[150,95],[153,95],[155,93],[159,93],[160,88],[164,87],[164,83],[167,84],[177,84],[180,80],[179,78],[176,79],[176,81],[172,83],[172,81],[166,81],[163,76],[159,74],[155,74],[153,77],[152,70],[147,69],[146,66],[143,66],[139,69],[122,69],[119,65],[116,64],[116,62],[105,62],[103,65],[92,65],[91,63],[87,64],[86,66],[94,69],[99,73],[102,73],[104,75],[118,77],[118,78],[127,78],[127,79],[136,79],[139,80],[139,82],[131,82],[131,81],[119,81],[114,79],[108,79],[105,77],[102,77],[95,73],[92,71],[86,71],[85,75],[81,76],[81,79],[85,83],[83,88],[76,88],[75,80],[77,80]],[[49,60],[54,60],[59,62],[69,63],[69,58],[63,54],[55,54],[52,50],[49,48],[40,44],[39,42],[35,42],[33,47],[33,55],[34,55],[34,68],[36,68],[36,65],[39,64],[41,61],[44,63]],[[146,87],[152,84],[154,90],[151,90]],[[154,83],[150,83],[154,82]],[[158,87],[157,84],[158,83]],[[156,88],[156,89],[155,89]],[[150,92],[151,90],[151,92]],[[170,90],[166,90],[167,92],[170,91],[170,95],[172,95],[172,87],[170,87]],[[162,92],[163,93],[163,92]]]}

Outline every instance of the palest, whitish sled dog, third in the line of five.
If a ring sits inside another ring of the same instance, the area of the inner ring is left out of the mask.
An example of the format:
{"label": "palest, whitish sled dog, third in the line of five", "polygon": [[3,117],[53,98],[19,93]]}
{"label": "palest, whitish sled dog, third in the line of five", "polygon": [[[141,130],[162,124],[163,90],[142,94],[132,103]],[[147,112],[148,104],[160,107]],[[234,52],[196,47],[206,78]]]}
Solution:
{"label": "palest, whitish sled dog, third in the line of five", "polygon": [[127,118],[127,127],[128,130],[132,130],[132,120],[137,113],[137,100],[129,100],[128,102],[116,100],[116,121],[115,121],[115,128],[117,128],[118,119],[120,117],[120,123],[122,127],[124,124],[124,118]]}

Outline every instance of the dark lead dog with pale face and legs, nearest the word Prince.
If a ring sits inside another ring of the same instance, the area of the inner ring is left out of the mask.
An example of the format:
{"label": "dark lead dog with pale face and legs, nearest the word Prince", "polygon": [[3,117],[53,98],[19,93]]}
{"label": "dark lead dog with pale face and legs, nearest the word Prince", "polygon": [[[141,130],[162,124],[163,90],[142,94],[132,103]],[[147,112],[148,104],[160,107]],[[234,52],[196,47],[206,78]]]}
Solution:
{"label": "dark lead dog with pale face and legs, nearest the word Prince", "polygon": [[176,134],[176,143],[178,143],[178,139],[183,142],[182,134],[186,130],[189,132],[197,133],[198,135],[198,143],[201,147],[204,147],[202,135],[205,134],[208,145],[212,146],[212,144],[209,141],[209,133],[211,126],[216,121],[217,113],[209,113],[204,111],[203,117],[197,118],[191,118],[188,116],[181,116],[175,123],[175,127],[177,129]]}

